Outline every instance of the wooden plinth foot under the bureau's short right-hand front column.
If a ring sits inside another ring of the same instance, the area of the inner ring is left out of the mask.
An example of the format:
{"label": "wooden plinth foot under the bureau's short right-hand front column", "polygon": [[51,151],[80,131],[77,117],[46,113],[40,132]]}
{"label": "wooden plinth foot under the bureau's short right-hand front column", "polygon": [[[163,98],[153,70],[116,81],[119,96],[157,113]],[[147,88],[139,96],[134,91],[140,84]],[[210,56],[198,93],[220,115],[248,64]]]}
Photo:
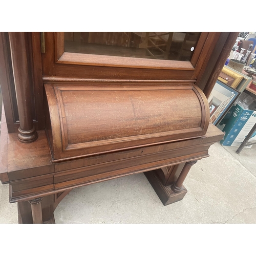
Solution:
{"label": "wooden plinth foot under the bureau's short right-hand front column", "polygon": [[154,188],[164,206],[181,201],[187,193],[187,189],[183,185],[178,193],[175,193],[172,190],[171,185],[164,186],[155,170],[145,172],[144,175]]}

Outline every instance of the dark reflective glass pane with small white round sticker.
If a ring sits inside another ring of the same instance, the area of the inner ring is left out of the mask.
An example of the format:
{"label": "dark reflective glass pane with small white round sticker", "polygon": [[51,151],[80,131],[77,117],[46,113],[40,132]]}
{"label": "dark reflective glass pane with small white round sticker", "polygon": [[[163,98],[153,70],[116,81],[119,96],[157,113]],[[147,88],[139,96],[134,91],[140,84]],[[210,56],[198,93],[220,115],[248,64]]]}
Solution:
{"label": "dark reflective glass pane with small white round sticker", "polygon": [[65,52],[190,61],[201,32],[65,32]]}

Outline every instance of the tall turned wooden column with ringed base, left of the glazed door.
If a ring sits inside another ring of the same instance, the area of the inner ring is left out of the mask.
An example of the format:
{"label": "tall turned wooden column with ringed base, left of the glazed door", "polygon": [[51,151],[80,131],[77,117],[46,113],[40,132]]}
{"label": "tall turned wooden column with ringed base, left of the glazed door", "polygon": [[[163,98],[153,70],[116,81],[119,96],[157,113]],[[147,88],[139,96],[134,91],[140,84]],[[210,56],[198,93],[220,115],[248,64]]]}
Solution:
{"label": "tall turned wooden column with ringed base, left of the glazed door", "polygon": [[9,38],[19,115],[18,140],[30,143],[37,139],[37,132],[32,117],[28,37],[26,32],[9,32]]}

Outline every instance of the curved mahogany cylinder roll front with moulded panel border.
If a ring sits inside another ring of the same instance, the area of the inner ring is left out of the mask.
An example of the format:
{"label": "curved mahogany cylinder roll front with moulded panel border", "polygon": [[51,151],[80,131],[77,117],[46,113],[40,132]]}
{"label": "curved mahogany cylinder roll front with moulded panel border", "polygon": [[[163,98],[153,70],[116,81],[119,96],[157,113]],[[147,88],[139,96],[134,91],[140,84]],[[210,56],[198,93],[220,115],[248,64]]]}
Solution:
{"label": "curved mahogany cylinder roll front with moulded panel border", "polygon": [[45,84],[53,161],[201,137],[209,106],[193,84]]}

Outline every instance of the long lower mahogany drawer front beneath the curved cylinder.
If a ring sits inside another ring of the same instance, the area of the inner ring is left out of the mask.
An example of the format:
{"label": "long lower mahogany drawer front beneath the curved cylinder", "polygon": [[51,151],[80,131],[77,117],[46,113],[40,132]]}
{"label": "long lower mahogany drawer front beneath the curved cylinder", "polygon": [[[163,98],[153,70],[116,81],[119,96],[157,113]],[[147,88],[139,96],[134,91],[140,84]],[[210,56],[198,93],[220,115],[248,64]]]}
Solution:
{"label": "long lower mahogany drawer front beneath the curved cylinder", "polygon": [[[120,159],[109,163],[94,164],[67,170],[54,175],[54,188],[86,184],[100,179],[112,178],[125,174],[145,172],[163,166],[180,163],[189,159],[208,156],[210,145],[191,146],[176,150],[147,154],[143,156]],[[193,152],[193,153],[191,153]]]}

